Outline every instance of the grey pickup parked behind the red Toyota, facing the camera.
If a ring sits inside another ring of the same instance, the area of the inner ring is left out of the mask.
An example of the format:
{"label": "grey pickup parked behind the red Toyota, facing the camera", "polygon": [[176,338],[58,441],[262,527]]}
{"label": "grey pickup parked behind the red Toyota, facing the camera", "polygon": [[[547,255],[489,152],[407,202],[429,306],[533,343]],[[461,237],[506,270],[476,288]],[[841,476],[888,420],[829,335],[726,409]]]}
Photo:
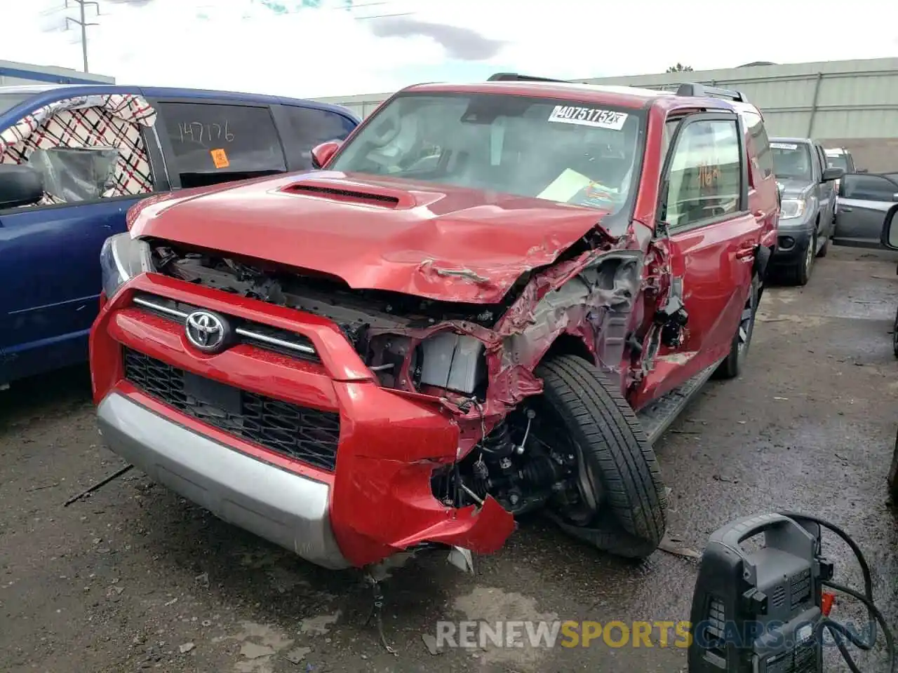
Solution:
{"label": "grey pickup parked behind the red Toyota, facing the camera", "polygon": [[773,267],[788,283],[805,285],[814,258],[829,248],[836,216],[833,182],[845,171],[827,168],[823,145],[811,138],[770,138],[770,151],[782,194]]}

